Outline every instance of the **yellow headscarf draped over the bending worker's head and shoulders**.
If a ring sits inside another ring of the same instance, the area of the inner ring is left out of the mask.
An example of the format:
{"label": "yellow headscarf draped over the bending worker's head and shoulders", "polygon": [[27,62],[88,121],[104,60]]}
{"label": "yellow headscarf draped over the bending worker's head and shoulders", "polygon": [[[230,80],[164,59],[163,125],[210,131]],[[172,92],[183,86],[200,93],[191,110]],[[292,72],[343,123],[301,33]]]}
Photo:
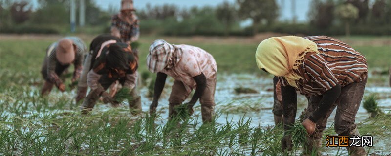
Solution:
{"label": "yellow headscarf draped over the bending worker's head and shoulders", "polygon": [[293,70],[300,66],[298,60],[303,60],[307,52],[319,53],[316,44],[308,39],[297,36],[272,37],[258,45],[255,58],[258,68],[284,77],[289,85],[297,88],[295,80],[302,77]]}

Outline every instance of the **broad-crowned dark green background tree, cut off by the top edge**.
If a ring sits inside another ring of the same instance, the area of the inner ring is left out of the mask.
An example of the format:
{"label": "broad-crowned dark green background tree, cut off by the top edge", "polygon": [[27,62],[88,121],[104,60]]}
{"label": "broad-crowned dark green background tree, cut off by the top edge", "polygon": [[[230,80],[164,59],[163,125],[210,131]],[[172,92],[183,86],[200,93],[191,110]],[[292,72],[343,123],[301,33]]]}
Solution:
{"label": "broad-crowned dark green background tree, cut off by the top edge", "polygon": [[262,20],[268,25],[279,16],[279,8],[276,0],[237,0],[239,4],[239,16],[253,21],[253,31],[258,32],[258,26]]}

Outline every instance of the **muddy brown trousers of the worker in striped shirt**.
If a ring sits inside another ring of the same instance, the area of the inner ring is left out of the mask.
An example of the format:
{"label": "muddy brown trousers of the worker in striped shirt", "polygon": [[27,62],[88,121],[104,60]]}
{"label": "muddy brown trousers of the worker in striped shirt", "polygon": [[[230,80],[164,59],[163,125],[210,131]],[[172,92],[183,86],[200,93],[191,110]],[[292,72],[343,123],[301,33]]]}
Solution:
{"label": "muddy brown trousers of the worker in striped shirt", "polygon": [[[310,153],[313,148],[320,146],[321,141],[319,140],[322,140],[322,132],[326,128],[327,118],[330,117],[330,114],[333,112],[335,107],[337,107],[334,118],[335,132],[340,136],[360,136],[357,125],[354,122],[364,95],[366,83],[367,79],[364,79],[361,82],[353,82],[342,87],[340,96],[327,111],[326,116],[321,117],[316,122],[315,132],[309,137],[309,144],[307,145],[307,148],[304,149],[304,151]],[[315,111],[322,97],[323,96],[311,96],[308,103],[308,108],[304,113],[304,119],[308,118],[312,112]],[[366,152],[363,147],[348,147],[347,150],[350,156],[366,156]]]}

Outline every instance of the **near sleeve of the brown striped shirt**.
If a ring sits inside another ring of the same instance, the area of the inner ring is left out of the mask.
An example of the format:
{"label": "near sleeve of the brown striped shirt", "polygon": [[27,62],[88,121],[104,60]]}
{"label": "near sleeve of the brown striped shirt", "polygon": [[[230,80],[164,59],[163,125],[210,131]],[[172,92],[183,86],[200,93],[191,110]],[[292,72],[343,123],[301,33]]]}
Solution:
{"label": "near sleeve of the brown striped shirt", "polygon": [[303,61],[304,71],[310,76],[313,85],[329,90],[338,84],[337,78],[320,54],[310,55]]}

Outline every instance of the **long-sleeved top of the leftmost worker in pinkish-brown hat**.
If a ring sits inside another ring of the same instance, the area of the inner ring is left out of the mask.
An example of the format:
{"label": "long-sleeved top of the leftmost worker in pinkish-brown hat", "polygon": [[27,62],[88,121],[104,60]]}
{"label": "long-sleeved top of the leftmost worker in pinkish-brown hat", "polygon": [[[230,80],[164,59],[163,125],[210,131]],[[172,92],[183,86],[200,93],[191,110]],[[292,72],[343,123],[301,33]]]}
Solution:
{"label": "long-sleeved top of the leftmost worker in pinkish-brown hat", "polygon": [[[75,55],[75,71],[73,73],[73,78],[77,79],[80,76],[82,71],[82,63],[84,55],[87,54],[86,44],[78,37],[65,37],[63,39],[72,40],[73,44],[76,45],[76,55]],[[46,49],[45,59],[42,64],[41,74],[43,78],[47,81],[54,83],[57,87],[62,84],[62,80],[59,76],[63,73],[63,71],[69,67],[70,64],[61,64],[56,58],[56,48],[58,46],[58,42],[52,43]]]}

